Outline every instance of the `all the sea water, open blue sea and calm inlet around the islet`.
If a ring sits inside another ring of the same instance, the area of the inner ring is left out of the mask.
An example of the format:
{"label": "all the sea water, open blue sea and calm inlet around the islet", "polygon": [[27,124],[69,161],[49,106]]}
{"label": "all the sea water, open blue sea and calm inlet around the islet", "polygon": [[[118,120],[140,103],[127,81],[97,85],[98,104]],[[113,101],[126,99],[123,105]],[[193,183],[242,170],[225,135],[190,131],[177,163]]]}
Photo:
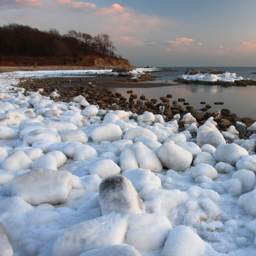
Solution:
{"label": "all the sea water, open blue sea and calm inlet around the islet", "polygon": [[[244,80],[251,79],[256,80],[256,67],[158,67],[172,69],[175,71],[166,72],[153,72],[155,81],[147,81],[149,83],[164,83],[164,86],[145,88],[143,82],[141,82],[141,88],[109,88],[112,92],[121,92],[124,97],[129,98],[130,94],[128,90],[133,90],[133,94],[137,94],[139,99],[141,95],[145,95],[146,99],[157,99],[157,102],[162,102],[160,97],[164,97],[167,94],[172,94],[172,98],[169,99],[172,104],[173,101],[177,101],[179,98],[185,99],[189,106],[193,106],[198,110],[205,107],[206,104],[211,105],[210,112],[216,112],[223,108],[229,109],[231,113],[237,114],[238,117],[249,117],[256,120],[256,86],[238,87],[230,86],[228,88],[219,85],[206,85],[206,84],[182,84],[173,82],[179,76],[184,74],[187,69],[196,68],[199,71],[205,69],[217,69],[217,71],[228,71],[230,73],[236,73],[236,76],[243,77]],[[136,100],[135,100],[136,102]],[[206,102],[206,104],[200,104],[200,102]],[[215,102],[223,102],[223,105],[216,105]],[[183,102],[178,104],[183,106]],[[184,109],[187,105],[184,105]]]}

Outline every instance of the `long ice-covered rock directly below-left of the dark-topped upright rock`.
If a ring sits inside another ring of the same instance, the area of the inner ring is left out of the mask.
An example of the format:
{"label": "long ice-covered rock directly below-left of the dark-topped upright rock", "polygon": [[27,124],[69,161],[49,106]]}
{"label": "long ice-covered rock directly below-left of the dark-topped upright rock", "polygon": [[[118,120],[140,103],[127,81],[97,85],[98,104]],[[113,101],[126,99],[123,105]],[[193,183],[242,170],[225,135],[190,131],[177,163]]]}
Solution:
{"label": "long ice-covered rock directly below-left of the dark-topped upright rock", "polygon": [[52,247],[52,256],[79,256],[86,251],[123,244],[127,220],[112,213],[67,228]]}

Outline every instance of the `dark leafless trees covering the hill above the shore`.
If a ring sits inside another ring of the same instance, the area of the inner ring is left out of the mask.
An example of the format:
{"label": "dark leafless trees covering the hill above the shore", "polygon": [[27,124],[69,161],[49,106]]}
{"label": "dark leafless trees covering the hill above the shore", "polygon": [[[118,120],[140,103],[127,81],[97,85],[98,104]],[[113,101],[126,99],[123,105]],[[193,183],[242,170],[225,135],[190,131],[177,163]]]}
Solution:
{"label": "dark leafless trees covering the hill above the shore", "polygon": [[[0,56],[80,57],[115,55],[116,48],[108,34],[89,34],[69,30],[60,35],[56,29],[40,31],[19,24],[0,26]],[[119,56],[121,57],[121,56]]]}

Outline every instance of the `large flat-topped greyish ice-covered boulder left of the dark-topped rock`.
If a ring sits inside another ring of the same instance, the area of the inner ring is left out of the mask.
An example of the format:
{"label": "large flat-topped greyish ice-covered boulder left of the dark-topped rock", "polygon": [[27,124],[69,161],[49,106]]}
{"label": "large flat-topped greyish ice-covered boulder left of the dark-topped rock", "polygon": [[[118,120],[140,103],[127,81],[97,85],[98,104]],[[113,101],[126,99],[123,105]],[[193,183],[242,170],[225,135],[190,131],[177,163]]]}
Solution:
{"label": "large flat-topped greyish ice-covered boulder left of the dark-topped rock", "polygon": [[70,172],[36,168],[13,179],[12,195],[31,205],[55,205],[67,199],[71,188]]}

